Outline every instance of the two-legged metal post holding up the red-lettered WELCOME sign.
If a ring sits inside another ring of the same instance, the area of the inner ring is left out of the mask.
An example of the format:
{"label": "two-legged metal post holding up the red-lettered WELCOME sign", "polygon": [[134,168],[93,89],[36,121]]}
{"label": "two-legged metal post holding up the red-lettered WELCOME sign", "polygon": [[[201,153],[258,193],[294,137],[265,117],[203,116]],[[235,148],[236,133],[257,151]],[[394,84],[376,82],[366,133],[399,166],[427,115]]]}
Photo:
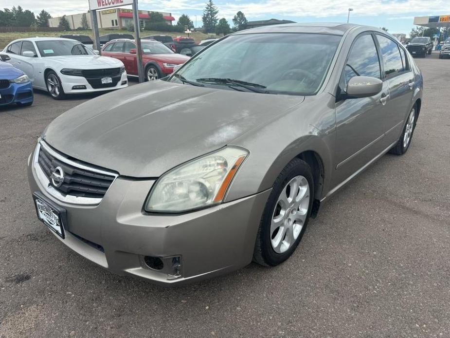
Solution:
{"label": "two-legged metal post holding up the red-lettered WELCOME sign", "polygon": [[139,82],[144,82],[144,67],[142,65],[142,46],[139,24],[138,0],[89,0],[90,22],[94,33],[94,46],[100,52],[100,35],[98,32],[97,10],[133,5],[134,34],[136,35],[136,59],[138,63]]}

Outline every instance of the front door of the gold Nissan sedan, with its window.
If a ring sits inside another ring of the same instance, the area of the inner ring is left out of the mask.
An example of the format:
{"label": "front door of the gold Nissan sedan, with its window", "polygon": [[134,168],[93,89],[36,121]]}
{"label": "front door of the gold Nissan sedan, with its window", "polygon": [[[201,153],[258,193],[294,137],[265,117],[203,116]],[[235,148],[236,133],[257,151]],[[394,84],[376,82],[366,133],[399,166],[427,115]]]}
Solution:
{"label": "front door of the gold Nissan sedan, with its window", "polygon": [[[381,70],[375,37],[370,32],[362,33],[348,53],[340,90],[344,92],[354,76],[381,79]],[[383,119],[389,101],[389,86],[383,83],[382,91],[371,97],[346,98],[345,93],[338,93],[337,97],[334,185],[340,184],[383,151]]]}

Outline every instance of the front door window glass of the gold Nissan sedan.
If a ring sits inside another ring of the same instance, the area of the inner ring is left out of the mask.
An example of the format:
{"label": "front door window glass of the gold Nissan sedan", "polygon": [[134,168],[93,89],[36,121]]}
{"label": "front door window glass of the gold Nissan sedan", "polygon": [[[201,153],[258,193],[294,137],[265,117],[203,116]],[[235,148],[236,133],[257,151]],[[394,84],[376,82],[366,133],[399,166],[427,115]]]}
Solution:
{"label": "front door window glass of the gold Nissan sedan", "polygon": [[344,76],[345,87],[354,76],[381,78],[377,48],[372,35],[366,34],[356,39],[348,55]]}

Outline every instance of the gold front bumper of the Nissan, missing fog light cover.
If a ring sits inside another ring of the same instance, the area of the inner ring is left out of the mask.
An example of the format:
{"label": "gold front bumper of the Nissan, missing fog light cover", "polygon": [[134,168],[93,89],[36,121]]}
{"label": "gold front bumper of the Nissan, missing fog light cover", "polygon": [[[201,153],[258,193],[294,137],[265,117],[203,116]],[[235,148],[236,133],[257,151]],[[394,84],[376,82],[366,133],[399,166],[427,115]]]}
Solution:
{"label": "gold front bumper of the Nissan, missing fog light cover", "polygon": [[[99,205],[71,205],[47,193],[37,179],[39,168],[32,157],[28,160],[31,191],[40,191],[67,210],[66,238],[55,236],[113,273],[180,284],[230,272],[252,261],[270,190],[185,214],[148,214],[143,205],[155,181],[119,176]],[[145,256],[158,257],[165,266],[180,257],[180,276],[171,276],[170,266],[149,268]]]}

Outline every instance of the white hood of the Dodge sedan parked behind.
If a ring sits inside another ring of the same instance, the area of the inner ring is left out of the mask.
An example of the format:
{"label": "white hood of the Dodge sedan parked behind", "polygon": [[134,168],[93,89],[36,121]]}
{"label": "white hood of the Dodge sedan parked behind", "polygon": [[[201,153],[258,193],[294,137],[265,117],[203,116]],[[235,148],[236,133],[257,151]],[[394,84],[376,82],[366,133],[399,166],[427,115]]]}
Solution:
{"label": "white hood of the Dodge sedan parked behind", "polygon": [[78,69],[93,69],[102,66],[105,68],[120,67],[123,65],[122,61],[99,55],[69,55],[69,56],[47,56],[43,59],[53,63],[59,63],[64,67],[78,68]]}

